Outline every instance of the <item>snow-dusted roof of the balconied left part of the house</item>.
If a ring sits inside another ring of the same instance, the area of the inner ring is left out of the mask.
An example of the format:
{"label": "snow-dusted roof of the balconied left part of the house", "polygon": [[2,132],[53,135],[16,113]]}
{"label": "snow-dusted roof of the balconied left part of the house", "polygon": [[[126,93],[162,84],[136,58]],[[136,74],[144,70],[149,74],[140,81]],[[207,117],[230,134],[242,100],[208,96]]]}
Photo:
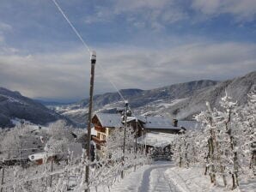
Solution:
{"label": "snow-dusted roof of the balconied left part of the house", "polygon": [[97,113],[95,116],[98,117],[102,127],[108,127],[108,128],[124,127],[122,123],[122,117],[120,114]]}

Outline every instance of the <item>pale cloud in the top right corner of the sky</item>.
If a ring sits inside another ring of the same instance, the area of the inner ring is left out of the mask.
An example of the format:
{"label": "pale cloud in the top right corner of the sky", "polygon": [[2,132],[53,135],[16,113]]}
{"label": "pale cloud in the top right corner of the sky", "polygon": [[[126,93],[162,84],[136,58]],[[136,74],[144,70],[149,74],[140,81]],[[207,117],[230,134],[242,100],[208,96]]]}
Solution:
{"label": "pale cloud in the top right corner of the sky", "polygon": [[193,0],[192,8],[205,15],[234,15],[239,21],[251,21],[256,15],[255,0]]}

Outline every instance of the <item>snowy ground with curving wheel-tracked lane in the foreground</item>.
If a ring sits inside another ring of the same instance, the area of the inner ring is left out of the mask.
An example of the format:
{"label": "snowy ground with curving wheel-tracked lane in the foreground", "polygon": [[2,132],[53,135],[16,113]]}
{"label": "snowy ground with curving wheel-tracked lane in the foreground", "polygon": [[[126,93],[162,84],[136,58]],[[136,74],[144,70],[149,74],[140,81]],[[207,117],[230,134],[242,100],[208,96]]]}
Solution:
{"label": "snowy ground with curving wheel-tracked lane in the foreground", "polygon": [[[253,192],[256,181],[242,178],[239,189],[233,191]],[[91,189],[91,191],[96,191]],[[221,181],[216,186],[210,183],[210,178],[204,176],[203,170],[194,168],[179,168],[170,161],[156,161],[152,165],[139,167],[123,180],[119,179],[110,189],[99,187],[102,192],[228,192]]]}

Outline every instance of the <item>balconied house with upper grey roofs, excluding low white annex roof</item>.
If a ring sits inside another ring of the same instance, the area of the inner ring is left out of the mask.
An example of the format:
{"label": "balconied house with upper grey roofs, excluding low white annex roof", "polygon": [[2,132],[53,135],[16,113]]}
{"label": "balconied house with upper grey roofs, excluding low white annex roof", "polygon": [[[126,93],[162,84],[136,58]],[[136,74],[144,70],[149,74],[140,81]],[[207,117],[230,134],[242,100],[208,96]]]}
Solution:
{"label": "balconied house with upper grey roofs, excluding low white annex roof", "polygon": [[[92,123],[94,123],[96,132],[96,136],[93,136],[93,141],[99,150],[104,146],[107,136],[111,135],[113,129],[125,127],[125,120],[119,113],[96,113],[92,118]],[[172,121],[167,117],[127,117],[127,125],[137,132],[137,137],[143,135],[143,132],[178,134],[180,131],[178,121]]]}

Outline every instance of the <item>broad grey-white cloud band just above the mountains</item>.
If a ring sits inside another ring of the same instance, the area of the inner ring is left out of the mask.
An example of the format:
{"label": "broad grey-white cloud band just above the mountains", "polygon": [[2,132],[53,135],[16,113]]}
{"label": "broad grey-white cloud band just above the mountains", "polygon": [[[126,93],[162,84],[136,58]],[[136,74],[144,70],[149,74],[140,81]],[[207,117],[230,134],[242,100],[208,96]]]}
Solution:
{"label": "broad grey-white cloud band just above the mountains", "polygon": [[[153,88],[199,79],[223,80],[256,70],[256,45],[195,43],[153,51],[137,47],[96,49],[95,93]],[[103,67],[101,69],[100,65]],[[29,97],[88,97],[90,64],[83,50],[0,56],[1,87]]]}

